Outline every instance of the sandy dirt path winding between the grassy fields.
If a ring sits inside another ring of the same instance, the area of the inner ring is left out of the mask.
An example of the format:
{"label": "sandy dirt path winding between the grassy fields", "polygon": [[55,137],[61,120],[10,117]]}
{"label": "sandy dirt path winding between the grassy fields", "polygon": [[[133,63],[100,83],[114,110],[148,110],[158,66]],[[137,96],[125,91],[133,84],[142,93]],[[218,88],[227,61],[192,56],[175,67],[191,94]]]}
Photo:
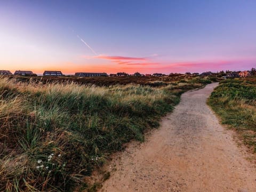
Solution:
{"label": "sandy dirt path winding between the grassy fields", "polygon": [[100,191],[256,191],[255,166],[206,105],[217,85],[182,94],[146,142],[115,155]]}

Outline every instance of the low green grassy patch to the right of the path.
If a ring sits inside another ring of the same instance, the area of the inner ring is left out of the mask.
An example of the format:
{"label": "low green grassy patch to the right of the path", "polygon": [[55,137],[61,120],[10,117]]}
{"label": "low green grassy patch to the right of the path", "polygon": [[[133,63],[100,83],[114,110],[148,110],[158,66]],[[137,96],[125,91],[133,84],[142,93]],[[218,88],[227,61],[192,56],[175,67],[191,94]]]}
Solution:
{"label": "low green grassy patch to the right of the path", "polygon": [[256,77],[227,79],[212,92],[209,105],[223,124],[235,129],[256,152]]}

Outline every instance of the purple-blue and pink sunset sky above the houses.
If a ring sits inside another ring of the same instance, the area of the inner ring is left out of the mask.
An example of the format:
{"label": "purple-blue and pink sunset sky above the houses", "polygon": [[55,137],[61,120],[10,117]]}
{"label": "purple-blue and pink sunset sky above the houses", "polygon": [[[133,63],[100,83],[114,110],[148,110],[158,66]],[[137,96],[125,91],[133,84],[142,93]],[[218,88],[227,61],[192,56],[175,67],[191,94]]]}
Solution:
{"label": "purple-blue and pink sunset sky above the houses", "polygon": [[0,0],[0,70],[251,69],[255,10],[255,0]]}

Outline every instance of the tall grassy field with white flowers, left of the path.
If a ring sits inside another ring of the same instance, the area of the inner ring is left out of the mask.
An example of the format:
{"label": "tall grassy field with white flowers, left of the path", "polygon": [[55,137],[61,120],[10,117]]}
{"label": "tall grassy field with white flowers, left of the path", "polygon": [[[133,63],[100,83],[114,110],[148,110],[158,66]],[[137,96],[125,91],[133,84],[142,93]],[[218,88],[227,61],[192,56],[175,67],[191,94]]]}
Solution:
{"label": "tall grassy field with white flowers, left of the path", "polygon": [[109,154],[143,141],[181,93],[211,81],[165,82],[100,87],[1,78],[0,190],[85,189],[85,177]]}

